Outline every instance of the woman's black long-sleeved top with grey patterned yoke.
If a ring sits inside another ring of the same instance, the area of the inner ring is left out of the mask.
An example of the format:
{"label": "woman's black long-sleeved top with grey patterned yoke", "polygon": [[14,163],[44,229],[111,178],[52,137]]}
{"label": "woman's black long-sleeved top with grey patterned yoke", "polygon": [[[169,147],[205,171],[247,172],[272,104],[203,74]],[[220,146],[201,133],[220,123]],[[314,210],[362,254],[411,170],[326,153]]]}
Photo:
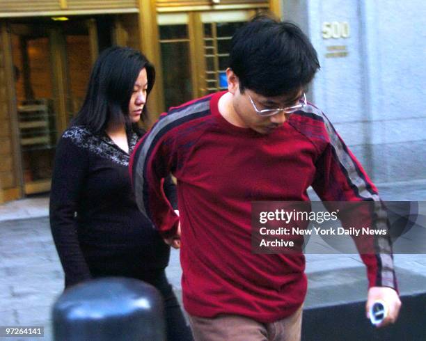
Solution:
{"label": "woman's black long-sleeved top with grey patterned yoke", "polygon": [[[138,141],[128,131],[129,154]],[[164,269],[170,248],[139,212],[129,178],[129,154],[107,134],[71,127],[56,148],[50,225],[65,286],[97,276],[139,277]],[[176,205],[175,186],[164,191]]]}

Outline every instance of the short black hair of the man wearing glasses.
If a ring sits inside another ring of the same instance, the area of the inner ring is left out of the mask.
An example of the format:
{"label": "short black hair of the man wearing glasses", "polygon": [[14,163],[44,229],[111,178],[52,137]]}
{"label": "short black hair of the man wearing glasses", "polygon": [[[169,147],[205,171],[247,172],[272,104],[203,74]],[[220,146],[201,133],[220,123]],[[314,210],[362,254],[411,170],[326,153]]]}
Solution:
{"label": "short black hair of the man wearing glasses", "polygon": [[277,96],[307,86],[319,62],[297,25],[258,15],[232,37],[229,66],[242,93],[248,88],[260,95]]}

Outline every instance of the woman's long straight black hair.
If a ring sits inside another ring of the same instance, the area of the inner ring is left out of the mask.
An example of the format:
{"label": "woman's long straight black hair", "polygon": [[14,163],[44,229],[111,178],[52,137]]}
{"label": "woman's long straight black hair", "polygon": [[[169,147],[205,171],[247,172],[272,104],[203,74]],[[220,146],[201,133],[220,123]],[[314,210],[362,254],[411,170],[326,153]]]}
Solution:
{"label": "woman's long straight black hair", "polygon": [[[103,132],[109,122],[131,125],[129,101],[143,68],[148,76],[148,96],[154,86],[155,69],[141,52],[118,46],[102,51],[93,65],[83,106],[71,125],[84,125],[95,134]],[[142,113],[146,117],[146,105]],[[133,127],[139,130],[136,124]]]}

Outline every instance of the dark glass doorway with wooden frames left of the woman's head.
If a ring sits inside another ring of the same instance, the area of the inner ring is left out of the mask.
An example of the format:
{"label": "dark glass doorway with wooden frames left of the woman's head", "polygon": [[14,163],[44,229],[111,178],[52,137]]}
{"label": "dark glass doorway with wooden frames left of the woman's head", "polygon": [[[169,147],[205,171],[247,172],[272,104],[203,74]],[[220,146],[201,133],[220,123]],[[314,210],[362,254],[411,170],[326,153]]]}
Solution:
{"label": "dark glass doorway with wooden frames left of the woman's head", "polygon": [[84,100],[91,67],[86,20],[11,24],[25,195],[50,190],[57,139]]}

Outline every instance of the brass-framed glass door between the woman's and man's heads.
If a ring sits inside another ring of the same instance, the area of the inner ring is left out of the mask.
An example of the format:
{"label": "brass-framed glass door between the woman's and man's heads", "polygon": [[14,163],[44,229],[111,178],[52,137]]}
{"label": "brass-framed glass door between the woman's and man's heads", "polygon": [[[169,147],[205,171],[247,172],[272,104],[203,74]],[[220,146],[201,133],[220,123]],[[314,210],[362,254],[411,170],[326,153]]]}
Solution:
{"label": "brass-framed glass door between the woman's and man's heads", "polygon": [[161,65],[166,109],[227,88],[230,40],[255,10],[161,13]]}

